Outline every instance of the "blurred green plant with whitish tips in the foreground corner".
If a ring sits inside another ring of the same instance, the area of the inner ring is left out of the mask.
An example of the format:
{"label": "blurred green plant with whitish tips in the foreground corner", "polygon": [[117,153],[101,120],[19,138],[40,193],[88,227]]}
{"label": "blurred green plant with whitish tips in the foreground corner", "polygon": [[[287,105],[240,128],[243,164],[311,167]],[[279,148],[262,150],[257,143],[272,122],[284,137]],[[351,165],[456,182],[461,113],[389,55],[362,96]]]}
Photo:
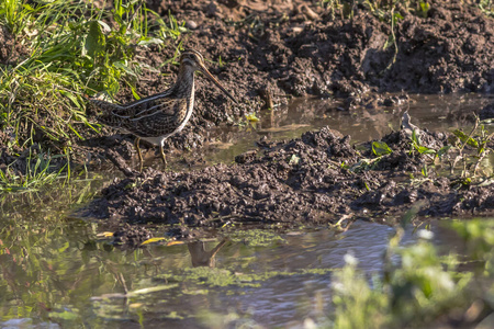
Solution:
{"label": "blurred green plant with whitish tips in the foreground corner", "polygon": [[[369,282],[357,260],[348,257],[334,276],[330,327],[418,328],[449,319],[472,325],[489,315],[494,297],[494,220],[458,220],[449,226],[464,239],[467,256],[440,257],[428,231],[416,245],[400,247],[398,229],[390,241],[383,276]],[[460,265],[469,270],[459,270]]]}

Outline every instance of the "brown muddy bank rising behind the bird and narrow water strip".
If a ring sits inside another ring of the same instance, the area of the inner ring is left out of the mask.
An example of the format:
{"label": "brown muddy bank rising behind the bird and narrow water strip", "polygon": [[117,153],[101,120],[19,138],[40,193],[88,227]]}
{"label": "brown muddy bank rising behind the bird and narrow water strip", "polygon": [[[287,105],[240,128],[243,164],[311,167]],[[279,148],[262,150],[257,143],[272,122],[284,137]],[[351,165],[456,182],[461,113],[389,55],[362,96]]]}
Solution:
{"label": "brown muddy bank rising behind the bird and narrow water strip", "polygon": [[[177,43],[201,52],[210,70],[240,100],[233,105],[198,77],[191,124],[166,140],[167,148],[201,147],[212,125],[235,123],[259,111],[271,94],[345,99],[345,109],[379,107],[407,102],[406,93],[494,91],[494,20],[462,1],[430,1],[426,14],[397,7],[403,16],[391,25],[363,5],[351,19],[308,1],[148,1],[161,15],[172,13],[189,29]],[[396,47],[389,43],[392,33]],[[159,67],[176,55],[139,48],[139,57]],[[142,95],[166,89],[177,67],[145,73]],[[402,97],[381,95],[404,92]],[[117,101],[132,101],[123,89]],[[98,147],[98,145],[94,145]]]}

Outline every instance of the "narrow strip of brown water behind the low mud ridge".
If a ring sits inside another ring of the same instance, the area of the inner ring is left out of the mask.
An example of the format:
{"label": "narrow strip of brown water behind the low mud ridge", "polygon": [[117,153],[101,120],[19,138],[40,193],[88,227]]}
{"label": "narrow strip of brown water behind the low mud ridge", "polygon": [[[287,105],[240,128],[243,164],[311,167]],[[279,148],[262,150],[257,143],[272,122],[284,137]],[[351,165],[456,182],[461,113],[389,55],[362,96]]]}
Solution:
{"label": "narrow strip of brown water behind the low mud ridge", "polygon": [[[472,126],[470,115],[493,100],[494,97],[483,94],[418,94],[411,95],[409,106],[404,104],[341,111],[341,103],[335,100],[299,99],[274,111],[263,111],[259,114],[258,122],[217,128],[211,133],[214,141],[206,144],[203,149],[180,156],[173,152],[170,158],[175,157],[177,161],[183,157],[188,162],[193,162],[198,157],[202,157],[205,159],[204,166],[231,163],[239,154],[257,149],[256,141],[263,136],[270,140],[292,139],[324,126],[329,126],[343,135],[350,135],[353,144],[369,141],[398,131],[403,112],[407,109],[412,123],[423,129],[468,129]],[[468,116],[470,118],[467,118]],[[158,160],[154,163],[160,164]],[[183,163],[171,163],[171,168],[183,170]]]}

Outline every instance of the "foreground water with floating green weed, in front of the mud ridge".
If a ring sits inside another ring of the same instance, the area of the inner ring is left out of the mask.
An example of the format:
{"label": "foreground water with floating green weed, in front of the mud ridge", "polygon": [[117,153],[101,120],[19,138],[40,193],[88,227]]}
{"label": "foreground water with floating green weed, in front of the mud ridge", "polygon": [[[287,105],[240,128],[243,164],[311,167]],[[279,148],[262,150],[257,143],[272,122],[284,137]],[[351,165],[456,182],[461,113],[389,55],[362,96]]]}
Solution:
{"label": "foreground water with floating green weed, in front of the mud ridge", "polygon": [[[0,319],[194,328],[205,321],[198,315],[236,314],[265,327],[292,327],[327,314],[330,272],[345,264],[348,252],[361,269],[379,273],[392,232],[356,222],[340,235],[321,229],[283,234],[283,240],[261,247],[227,242],[214,268],[193,268],[198,250],[218,241],[120,250],[94,241],[97,226],[85,222],[22,223],[1,232]],[[404,242],[414,239],[411,229]],[[227,277],[233,281],[224,286]]]}

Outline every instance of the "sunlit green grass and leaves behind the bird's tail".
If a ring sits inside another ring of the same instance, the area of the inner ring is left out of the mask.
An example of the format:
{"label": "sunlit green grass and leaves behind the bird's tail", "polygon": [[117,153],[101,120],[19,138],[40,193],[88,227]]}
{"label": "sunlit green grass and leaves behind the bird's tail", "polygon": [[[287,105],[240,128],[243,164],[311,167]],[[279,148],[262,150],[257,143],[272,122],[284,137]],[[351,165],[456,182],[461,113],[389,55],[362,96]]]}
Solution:
{"label": "sunlit green grass and leaves behind the bird's tail", "polygon": [[14,144],[66,148],[83,139],[85,132],[98,129],[86,117],[87,97],[113,97],[127,86],[137,99],[138,76],[156,70],[135,56],[138,49],[162,46],[184,31],[141,1],[110,4],[111,10],[89,1],[1,2],[0,23],[13,55],[0,65],[0,128],[12,131]]}

